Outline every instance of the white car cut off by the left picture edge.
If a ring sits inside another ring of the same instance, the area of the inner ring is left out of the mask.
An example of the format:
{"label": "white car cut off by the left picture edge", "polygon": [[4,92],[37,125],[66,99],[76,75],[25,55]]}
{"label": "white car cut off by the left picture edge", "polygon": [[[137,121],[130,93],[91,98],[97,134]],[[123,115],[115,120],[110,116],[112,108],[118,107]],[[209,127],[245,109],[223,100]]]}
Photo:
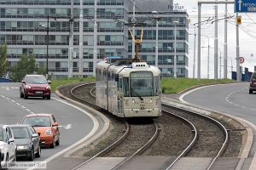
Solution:
{"label": "white car cut off by the left picture edge", "polygon": [[0,125],[1,166],[8,168],[10,162],[16,161],[16,144],[14,133],[8,125]]}

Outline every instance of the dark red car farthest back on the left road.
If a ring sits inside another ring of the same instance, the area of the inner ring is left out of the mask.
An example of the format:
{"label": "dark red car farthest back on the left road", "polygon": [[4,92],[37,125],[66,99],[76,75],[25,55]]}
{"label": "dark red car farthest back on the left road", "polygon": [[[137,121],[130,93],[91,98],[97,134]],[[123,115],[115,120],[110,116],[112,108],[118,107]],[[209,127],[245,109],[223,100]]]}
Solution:
{"label": "dark red car farthest back on the left road", "polygon": [[50,81],[43,75],[26,75],[20,85],[20,98],[43,97],[50,99]]}

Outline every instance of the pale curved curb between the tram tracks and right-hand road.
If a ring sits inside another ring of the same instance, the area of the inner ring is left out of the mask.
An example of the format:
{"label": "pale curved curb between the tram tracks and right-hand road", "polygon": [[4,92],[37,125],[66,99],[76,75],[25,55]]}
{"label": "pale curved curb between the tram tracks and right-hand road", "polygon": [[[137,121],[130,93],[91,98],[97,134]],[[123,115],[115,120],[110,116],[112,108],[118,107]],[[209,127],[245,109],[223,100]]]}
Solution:
{"label": "pale curved curb between the tram tracks and right-hand road", "polygon": [[241,170],[241,167],[243,166],[244,161],[248,157],[250,149],[251,149],[252,144],[253,144],[253,129],[252,129],[253,127],[251,125],[249,125],[246,121],[242,120],[239,117],[231,116],[231,115],[229,115],[227,113],[224,113],[224,112],[204,109],[204,108],[201,108],[198,105],[191,105],[189,103],[183,103],[181,101],[177,101],[176,99],[170,99],[170,98],[163,97],[162,98],[162,103],[167,104],[167,105],[175,105],[175,106],[177,106],[181,109],[184,108],[186,110],[195,111],[195,112],[198,112],[198,113],[203,114],[203,115],[216,117],[216,118],[221,119],[225,122],[228,121],[231,124],[235,124],[235,122],[236,122],[236,123],[240,124],[241,127],[244,127],[246,129],[246,132],[247,132],[247,138],[245,139],[246,141],[244,141],[245,142],[244,146],[243,146],[243,148],[241,149],[241,151],[239,153],[240,161],[238,162],[238,164],[236,166],[236,170]]}

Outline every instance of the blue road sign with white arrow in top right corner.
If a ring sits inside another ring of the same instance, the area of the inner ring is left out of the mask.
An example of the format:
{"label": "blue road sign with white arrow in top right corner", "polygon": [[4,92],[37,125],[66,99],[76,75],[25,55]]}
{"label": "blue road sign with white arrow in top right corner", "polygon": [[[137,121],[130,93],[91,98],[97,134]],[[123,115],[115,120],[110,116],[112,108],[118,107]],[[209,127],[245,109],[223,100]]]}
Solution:
{"label": "blue road sign with white arrow in top right corner", "polygon": [[255,13],[255,0],[235,0],[235,13]]}

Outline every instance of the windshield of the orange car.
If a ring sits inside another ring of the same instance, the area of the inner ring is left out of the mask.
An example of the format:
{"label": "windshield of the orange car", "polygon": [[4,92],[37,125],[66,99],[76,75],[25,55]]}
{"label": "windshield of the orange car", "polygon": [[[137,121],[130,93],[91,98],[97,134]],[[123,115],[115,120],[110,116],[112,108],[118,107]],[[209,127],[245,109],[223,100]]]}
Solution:
{"label": "windshield of the orange car", "polygon": [[47,116],[26,117],[23,124],[30,124],[32,127],[50,127],[49,117]]}

